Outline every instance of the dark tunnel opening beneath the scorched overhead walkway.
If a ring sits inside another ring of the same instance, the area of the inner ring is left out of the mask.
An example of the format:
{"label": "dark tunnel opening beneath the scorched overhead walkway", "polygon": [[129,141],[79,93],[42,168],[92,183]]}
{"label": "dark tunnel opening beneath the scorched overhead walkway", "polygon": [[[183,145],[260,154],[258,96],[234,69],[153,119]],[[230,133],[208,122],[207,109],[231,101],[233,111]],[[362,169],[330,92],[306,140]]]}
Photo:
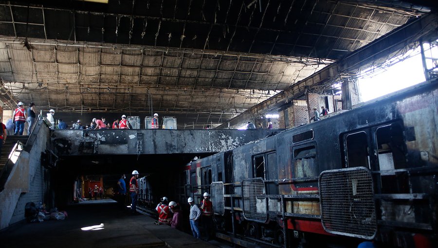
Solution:
{"label": "dark tunnel opening beneath the scorched overhead walkway", "polygon": [[[163,196],[176,199],[183,191],[180,187],[186,178],[183,169],[187,163],[194,157],[203,158],[212,154],[61,156],[55,168],[49,171],[51,187],[47,188],[52,190],[46,192],[45,199],[62,208],[80,198],[89,199],[89,188],[94,186],[102,187],[103,197],[112,198],[117,195],[117,181],[122,174],[126,175],[129,191],[133,170],[139,172],[139,178],[147,178],[152,202],[158,203]],[[97,198],[100,198],[100,191]]]}

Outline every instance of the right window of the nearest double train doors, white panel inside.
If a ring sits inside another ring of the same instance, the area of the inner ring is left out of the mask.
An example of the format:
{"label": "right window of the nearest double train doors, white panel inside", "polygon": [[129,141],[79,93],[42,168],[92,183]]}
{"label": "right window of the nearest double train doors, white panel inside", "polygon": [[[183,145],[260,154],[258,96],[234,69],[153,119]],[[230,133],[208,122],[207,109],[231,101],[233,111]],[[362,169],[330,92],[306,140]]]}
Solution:
{"label": "right window of the nearest double train doors, white panel inside", "polygon": [[403,132],[399,124],[378,127],[376,140],[380,170],[406,168]]}

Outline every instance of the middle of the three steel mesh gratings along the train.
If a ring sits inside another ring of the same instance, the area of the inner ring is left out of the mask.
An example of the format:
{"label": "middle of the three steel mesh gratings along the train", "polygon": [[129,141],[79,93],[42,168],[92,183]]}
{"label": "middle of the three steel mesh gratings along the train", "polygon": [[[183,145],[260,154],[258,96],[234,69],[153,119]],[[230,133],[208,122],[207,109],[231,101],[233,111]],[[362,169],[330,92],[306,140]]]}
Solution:
{"label": "middle of the three steel mesh gratings along the train", "polygon": [[243,216],[247,220],[264,223],[268,219],[265,183],[262,178],[242,182]]}

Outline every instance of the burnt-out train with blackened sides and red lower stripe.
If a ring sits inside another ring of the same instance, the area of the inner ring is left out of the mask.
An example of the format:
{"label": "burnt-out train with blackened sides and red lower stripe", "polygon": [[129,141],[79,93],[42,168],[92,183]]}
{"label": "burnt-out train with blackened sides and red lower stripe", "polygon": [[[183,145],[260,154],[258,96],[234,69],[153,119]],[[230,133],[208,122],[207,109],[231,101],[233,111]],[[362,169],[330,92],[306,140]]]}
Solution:
{"label": "burnt-out train with blackened sides and red lower stripe", "polygon": [[[193,159],[167,194],[210,193],[217,237],[243,246],[437,247],[437,138],[432,80]],[[155,207],[140,185],[139,204]]]}

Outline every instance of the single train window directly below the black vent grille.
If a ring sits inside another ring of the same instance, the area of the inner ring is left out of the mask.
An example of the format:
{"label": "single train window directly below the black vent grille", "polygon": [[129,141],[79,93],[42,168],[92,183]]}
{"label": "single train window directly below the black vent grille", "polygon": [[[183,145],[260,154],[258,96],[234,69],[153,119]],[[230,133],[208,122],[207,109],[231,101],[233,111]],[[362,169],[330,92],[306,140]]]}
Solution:
{"label": "single train window directly below the black vent grille", "polygon": [[319,175],[314,145],[295,149],[293,157],[295,160],[293,177],[317,177]]}

